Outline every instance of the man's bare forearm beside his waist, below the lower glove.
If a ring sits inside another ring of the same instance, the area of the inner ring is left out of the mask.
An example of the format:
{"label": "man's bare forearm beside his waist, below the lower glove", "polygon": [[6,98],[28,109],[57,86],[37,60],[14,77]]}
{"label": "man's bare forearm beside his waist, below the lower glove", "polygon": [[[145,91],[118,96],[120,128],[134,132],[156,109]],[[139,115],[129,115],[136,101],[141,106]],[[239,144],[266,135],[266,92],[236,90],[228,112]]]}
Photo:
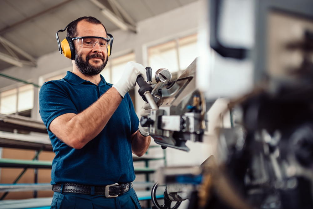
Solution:
{"label": "man's bare forearm beside his waist, below the lower glove", "polygon": [[150,142],[151,142],[150,135],[143,136],[141,135],[139,130],[137,130],[135,133],[131,135],[131,151],[138,157],[141,157],[148,150]]}

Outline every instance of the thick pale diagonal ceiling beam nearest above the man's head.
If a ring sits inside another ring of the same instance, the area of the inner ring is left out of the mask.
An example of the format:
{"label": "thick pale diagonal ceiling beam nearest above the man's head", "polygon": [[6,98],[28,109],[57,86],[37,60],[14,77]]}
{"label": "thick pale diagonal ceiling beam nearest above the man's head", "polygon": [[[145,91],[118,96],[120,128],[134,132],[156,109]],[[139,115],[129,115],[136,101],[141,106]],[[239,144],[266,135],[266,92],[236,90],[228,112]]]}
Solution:
{"label": "thick pale diagonal ceiling beam nearest above the man's head", "polygon": [[[131,25],[126,23],[122,18],[119,18],[115,13],[111,12],[103,3],[98,0],[90,0],[97,7],[101,9],[101,14],[103,14],[106,18],[108,18],[112,23],[114,23],[117,27],[122,30],[130,30],[136,33],[136,25]],[[121,11],[120,11],[121,12]]]}

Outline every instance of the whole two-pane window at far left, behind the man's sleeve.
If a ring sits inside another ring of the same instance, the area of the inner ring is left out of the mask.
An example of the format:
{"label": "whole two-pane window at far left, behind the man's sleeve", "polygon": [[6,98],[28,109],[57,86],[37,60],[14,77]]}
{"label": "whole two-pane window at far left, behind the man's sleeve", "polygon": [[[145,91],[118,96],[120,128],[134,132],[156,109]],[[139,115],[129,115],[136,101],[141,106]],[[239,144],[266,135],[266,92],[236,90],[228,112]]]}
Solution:
{"label": "whole two-pane window at far left, behind the man's sleeve", "polygon": [[34,106],[33,85],[23,85],[18,88],[6,90],[0,93],[0,113],[30,117],[30,110]]}

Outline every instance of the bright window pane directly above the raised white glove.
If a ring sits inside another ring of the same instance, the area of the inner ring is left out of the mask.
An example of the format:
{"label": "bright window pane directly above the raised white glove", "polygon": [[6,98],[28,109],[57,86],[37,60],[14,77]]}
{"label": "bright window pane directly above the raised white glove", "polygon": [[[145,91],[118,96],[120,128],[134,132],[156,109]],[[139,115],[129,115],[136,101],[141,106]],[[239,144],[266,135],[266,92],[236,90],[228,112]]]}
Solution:
{"label": "bright window pane directly above the raised white glove", "polygon": [[136,60],[135,54],[130,53],[124,56],[114,58],[111,61],[112,61],[112,84],[116,84],[121,78],[126,64],[130,61],[135,62]]}

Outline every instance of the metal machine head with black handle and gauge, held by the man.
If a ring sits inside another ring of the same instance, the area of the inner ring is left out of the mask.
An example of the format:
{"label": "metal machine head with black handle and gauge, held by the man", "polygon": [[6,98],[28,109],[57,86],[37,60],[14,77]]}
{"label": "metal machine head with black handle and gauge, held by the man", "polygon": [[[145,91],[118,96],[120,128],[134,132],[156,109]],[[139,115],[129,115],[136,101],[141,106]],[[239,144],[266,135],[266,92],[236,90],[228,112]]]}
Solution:
{"label": "metal machine head with black handle and gauge, held by the man", "polygon": [[[149,128],[151,137],[163,149],[172,147],[189,151],[185,145],[187,140],[202,141],[206,127],[206,102],[196,87],[196,63],[197,59],[173,81],[168,69],[156,71],[157,84],[149,85],[142,78],[139,82],[137,79],[139,94],[152,108],[150,115],[141,117],[140,123],[142,127]],[[147,70],[148,83],[151,83],[150,73]]]}

